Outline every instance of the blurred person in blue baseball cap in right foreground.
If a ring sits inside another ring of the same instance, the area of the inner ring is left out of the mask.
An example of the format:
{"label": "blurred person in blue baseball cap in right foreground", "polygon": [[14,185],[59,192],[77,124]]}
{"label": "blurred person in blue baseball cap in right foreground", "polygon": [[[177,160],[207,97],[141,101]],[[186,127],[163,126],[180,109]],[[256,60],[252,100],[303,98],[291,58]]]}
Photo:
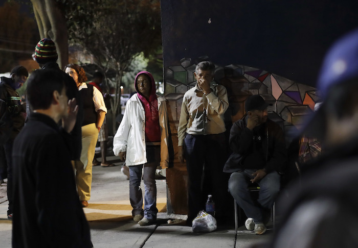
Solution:
{"label": "blurred person in blue baseball cap in right foreground", "polygon": [[358,247],[358,29],[330,48],[317,88],[323,104],[303,134],[325,152],[280,197],[282,223],[265,247]]}

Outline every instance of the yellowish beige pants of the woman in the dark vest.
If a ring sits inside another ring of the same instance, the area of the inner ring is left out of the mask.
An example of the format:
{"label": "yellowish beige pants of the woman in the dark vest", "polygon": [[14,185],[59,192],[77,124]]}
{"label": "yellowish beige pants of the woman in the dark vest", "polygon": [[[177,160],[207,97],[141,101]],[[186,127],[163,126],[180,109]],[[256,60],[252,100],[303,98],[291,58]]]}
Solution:
{"label": "yellowish beige pants of the woman in the dark vest", "polygon": [[82,151],[80,160],[75,161],[76,184],[80,201],[88,201],[91,197],[92,161],[98,139],[95,123],[82,127]]}

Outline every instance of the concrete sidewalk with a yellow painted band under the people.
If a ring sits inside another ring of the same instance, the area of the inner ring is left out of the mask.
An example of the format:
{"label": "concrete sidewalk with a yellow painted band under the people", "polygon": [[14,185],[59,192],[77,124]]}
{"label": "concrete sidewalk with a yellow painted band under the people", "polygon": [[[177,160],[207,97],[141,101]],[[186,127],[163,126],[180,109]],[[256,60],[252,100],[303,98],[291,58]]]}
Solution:
{"label": "concrete sidewalk with a yellow painted band under the people", "polygon": [[[129,181],[121,172],[122,162],[117,157],[107,160],[114,167],[93,167],[93,183],[89,206],[84,208],[92,242],[101,247],[248,247],[267,240],[272,230],[264,235],[255,235],[240,227],[235,234],[234,227],[219,229],[211,233],[193,233],[191,227],[168,225],[167,221],[180,222],[186,215],[167,215],[166,180],[156,180],[158,222],[141,227],[132,220],[129,203]],[[143,188],[144,192],[144,188]],[[5,184],[0,185],[0,247],[11,247],[12,222],[7,219],[8,202]]]}

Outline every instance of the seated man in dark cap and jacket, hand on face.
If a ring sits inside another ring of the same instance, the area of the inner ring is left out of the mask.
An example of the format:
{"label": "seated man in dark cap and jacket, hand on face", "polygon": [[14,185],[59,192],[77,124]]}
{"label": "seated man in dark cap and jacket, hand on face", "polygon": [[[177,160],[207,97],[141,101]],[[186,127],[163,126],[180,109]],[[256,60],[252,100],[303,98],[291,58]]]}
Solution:
{"label": "seated man in dark cap and jacket, hand on face", "polygon": [[[224,172],[232,173],[229,191],[248,216],[245,227],[256,234],[266,231],[264,222],[280,190],[277,170],[286,163],[283,132],[267,118],[267,106],[260,95],[247,98],[247,114],[231,128],[229,143],[233,154],[224,167]],[[250,183],[260,186],[257,201],[250,195]]]}

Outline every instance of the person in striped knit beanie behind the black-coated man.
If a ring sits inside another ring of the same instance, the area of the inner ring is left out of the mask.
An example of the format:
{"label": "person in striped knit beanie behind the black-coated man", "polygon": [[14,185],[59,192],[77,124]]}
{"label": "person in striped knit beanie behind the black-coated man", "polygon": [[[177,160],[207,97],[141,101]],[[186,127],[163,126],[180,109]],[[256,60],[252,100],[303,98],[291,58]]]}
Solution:
{"label": "person in striped knit beanie behind the black-coated man", "polygon": [[[77,114],[77,120],[76,125],[74,129],[72,130],[72,160],[79,160],[81,156],[81,150],[82,150],[82,131],[81,131],[81,125],[83,120],[83,102],[81,100],[81,96],[78,92],[77,86],[75,81],[66,73],[60,69],[59,65],[57,64],[57,52],[56,52],[56,46],[55,43],[50,38],[43,38],[41,39],[35,47],[35,54],[34,59],[38,63],[41,69],[53,69],[58,70],[65,79],[66,84],[66,90],[67,94],[69,95],[69,98],[76,98],[76,102],[78,105],[78,114]],[[27,114],[29,115],[30,112],[32,112],[31,104],[27,103]]]}

